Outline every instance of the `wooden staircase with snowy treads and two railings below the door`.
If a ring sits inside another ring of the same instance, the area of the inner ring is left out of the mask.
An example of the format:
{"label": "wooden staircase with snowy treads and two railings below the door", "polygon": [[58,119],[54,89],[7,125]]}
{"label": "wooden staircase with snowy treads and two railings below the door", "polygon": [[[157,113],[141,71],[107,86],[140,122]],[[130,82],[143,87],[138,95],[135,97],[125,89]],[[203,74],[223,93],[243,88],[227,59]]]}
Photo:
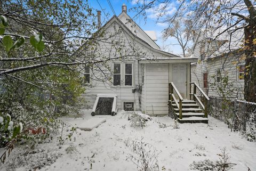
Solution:
{"label": "wooden staircase with snowy treads and two railings below the door", "polygon": [[[191,84],[194,84],[194,91],[190,93],[190,95],[193,95],[193,100],[185,100],[182,98],[175,85],[169,83],[169,105],[171,105],[171,108],[174,110],[174,118],[177,119],[179,123],[207,124],[207,102],[210,99],[196,83]],[[196,89],[205,97],[204,104],[196,95]],[[175,97],[174,92],[177,94],[179,100]]]}

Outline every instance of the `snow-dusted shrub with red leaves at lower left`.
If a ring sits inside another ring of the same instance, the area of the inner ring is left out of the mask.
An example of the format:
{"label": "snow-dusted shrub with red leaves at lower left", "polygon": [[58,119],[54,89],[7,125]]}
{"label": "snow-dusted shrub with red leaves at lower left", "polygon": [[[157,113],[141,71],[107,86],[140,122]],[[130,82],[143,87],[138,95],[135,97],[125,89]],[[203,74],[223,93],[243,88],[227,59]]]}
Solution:
{"label": "snow-dusted shrub with red leaves at lower left", "polygon": [[0,124],[2,147],[12,139],[41,141],[50,133],[56,132],[59,127],[58,120],[47,110],[36,106],[24,109],[17,102],[13,102],[10,108],[0,113],[0,117],[0,120],[3,120]]}

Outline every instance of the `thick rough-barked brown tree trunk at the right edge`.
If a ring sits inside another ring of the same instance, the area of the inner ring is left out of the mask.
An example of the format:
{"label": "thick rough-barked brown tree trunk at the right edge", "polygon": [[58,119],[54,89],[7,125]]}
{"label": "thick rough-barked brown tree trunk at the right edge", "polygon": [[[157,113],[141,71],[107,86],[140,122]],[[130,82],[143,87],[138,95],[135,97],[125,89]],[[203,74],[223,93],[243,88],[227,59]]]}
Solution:
{"label": "thick rough-barked brown tree trunk at the right edge", "polygon": [[[244,98],[246,101],[256,102],[256,16],[252,17],[245,27],[245,77]],[[255,41],[254,40],[254,41]]]}

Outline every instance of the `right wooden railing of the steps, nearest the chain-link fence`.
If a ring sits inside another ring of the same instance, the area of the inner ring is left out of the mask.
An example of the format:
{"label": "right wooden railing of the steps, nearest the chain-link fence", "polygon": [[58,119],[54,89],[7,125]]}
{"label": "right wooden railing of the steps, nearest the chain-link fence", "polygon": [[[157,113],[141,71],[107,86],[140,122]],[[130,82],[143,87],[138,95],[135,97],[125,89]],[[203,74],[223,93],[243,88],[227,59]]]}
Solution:
{"label": "right wooden railing of the steps, nearest the chain-link fence", "polygon": [[[193,89],[193,94],[190,93],[190,95],[193,95],[193,100],[197,101],[201,105],[202,109],[204,110],[204,117],[208,118],[208,101],[210,100],[210,98],[204,93],[203,89],[201,87],[199,87],[199,85],[196,83],[190,83],[190,91],[191,91],[191,85],[194,85],[193,86],[194,89]],[[201,92],[201,94],[203,95],[204,104],[199,99],[199,97],[196,95],[196,89],[198,89],[199,92]]]}

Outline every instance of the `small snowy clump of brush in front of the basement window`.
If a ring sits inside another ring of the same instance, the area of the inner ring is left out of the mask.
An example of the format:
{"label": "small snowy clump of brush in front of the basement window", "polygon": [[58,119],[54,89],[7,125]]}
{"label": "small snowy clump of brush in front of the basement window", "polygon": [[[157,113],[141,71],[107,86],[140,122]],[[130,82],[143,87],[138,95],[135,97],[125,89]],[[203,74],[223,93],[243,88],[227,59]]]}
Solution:
{"label": "small snowy clump of brush in front of the basement window", "polygon": [[129,113],[128,120],[130,120],[131,127],[146,127],[146,121],[148,121],[149,117],[145,115],[140,115],[137,112]]}

